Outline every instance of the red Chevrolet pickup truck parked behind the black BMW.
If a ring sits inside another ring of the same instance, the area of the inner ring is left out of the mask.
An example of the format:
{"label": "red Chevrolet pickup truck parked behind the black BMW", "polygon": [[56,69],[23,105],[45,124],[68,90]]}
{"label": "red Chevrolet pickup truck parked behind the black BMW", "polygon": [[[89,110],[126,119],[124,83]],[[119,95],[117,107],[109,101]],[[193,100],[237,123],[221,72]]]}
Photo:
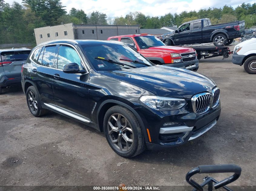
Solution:
{"label": "red Chevrolet pickup truck parked behind the black BMW", "polygon": [[153,35],[133,34],[109,37],[107,40],[121,41],[137,50],[154,64],[167,65],[197,71],[199,61],[193,48],[165,46]]}

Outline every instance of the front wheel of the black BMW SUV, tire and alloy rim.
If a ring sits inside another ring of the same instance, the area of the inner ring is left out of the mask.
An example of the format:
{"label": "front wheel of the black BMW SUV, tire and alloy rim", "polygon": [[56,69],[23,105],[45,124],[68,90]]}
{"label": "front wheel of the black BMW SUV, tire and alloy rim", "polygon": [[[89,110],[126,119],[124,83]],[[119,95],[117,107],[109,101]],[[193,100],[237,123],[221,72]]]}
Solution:
{"label": "front wheel of the black BMW SUV, tire and alloy rim", "polygon": [[111,107],[105,114],[103,127],[108,144],[121,157],[135,157],[145,150],[140,123],[126,107]]}

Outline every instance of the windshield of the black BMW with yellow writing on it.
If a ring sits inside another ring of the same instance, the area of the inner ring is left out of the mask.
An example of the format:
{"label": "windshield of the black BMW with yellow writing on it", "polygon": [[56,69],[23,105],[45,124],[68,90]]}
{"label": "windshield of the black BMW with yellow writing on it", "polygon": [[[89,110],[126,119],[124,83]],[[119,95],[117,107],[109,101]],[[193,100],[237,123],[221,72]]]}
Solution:
{"label": "windshield of the black BMW with yellow writing on it", "polygon": [[152,66],[152,64],[124,45],[84,45],[85,55],[97,71],[114,71]]}

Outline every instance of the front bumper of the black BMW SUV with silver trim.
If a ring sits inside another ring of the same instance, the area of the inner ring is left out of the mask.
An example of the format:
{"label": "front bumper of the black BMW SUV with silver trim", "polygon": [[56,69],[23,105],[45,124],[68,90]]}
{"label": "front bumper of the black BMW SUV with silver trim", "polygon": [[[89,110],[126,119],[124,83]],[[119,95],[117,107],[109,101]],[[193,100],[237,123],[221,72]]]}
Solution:
{"label": "front bumper of the black BMW SUV with silver trim", "polygon": [[[148,149],[155,150],[183,145],[210,130],[219,119],[221,103],[216,109],[210,109],[209,113],[203,116],[198,116],[187,109],[185,111],[185,108],[169,111],[168,116],[150,115],[146,110],[146,107],[138,108],[137,112],[144,118],[142,121],[150,134],[151,141],[146,139],[146,145]],[[143,113],[145,113],[144,116]],[[179,124],[165,127],[163,124],[168,122]],[[145,136],[148,138],[148,134]]]}

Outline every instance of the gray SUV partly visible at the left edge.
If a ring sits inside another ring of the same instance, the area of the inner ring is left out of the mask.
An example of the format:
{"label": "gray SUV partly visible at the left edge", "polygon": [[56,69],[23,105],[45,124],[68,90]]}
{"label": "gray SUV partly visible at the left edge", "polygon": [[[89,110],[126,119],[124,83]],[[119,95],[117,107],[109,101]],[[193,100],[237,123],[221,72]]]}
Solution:
{"label": "gray SUV partly visible at the left edge", "polygon": [[2,88],[21,84],[22,65],[30,51],[28,48],[0,49],[0,94]]}

